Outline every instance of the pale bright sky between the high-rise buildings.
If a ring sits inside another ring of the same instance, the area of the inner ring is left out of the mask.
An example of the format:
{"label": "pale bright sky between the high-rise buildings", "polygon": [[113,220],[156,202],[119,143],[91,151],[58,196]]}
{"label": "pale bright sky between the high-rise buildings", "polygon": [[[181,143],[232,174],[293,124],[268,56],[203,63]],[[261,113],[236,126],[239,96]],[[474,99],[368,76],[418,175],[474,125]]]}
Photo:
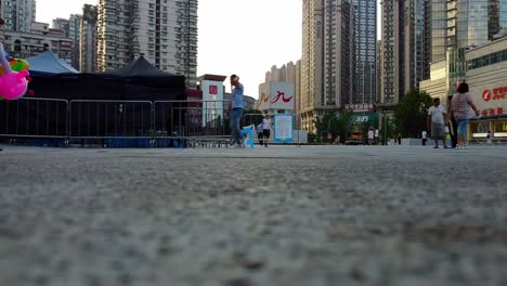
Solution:
{"label": "pale bright sky between the high-rise buildings", "polygon": [[[99,2],[36,1],[37,21],[50,24],[56,17],[82,14],[83,4]],[[199,0],[197,76],[236,74],[245,94],[257,99],[265,72],[301,58],[301,13],[302,0]],[[229,90],[229,78],[225,86]]]}

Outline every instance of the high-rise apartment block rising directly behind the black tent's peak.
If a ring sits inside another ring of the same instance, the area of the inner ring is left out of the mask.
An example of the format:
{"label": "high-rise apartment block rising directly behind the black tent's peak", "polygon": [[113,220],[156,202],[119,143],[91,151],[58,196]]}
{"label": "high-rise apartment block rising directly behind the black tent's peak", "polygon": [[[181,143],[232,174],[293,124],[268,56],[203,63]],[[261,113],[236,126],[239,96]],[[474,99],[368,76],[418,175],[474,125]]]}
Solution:
{"label": "high-rise apartment block rising directly behind the black tent's peak", "polygon": [[195,86],[197,0],[100,0],[98,68],[115,69],[140,55]]}

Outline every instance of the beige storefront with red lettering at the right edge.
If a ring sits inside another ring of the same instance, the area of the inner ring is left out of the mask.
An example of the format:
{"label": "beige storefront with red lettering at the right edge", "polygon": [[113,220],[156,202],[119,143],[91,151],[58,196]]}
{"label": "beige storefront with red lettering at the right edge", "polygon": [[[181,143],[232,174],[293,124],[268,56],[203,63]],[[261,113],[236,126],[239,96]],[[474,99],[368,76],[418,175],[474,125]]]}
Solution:
{"label": "beige storefront with red lettering at the right edge", "polygon": [[481,118],[469,123],[469,139],[485,138],[491,131],[496,141],[507,140],[507,38],[465,53],[466,81]]}

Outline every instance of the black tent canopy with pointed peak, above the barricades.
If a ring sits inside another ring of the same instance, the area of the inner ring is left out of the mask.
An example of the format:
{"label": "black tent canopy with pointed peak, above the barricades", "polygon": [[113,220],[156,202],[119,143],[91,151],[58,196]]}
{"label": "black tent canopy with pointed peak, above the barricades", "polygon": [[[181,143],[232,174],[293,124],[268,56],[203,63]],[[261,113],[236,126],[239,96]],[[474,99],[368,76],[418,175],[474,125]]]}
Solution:
{"label": "black tent canopy with pointed peak, above the barricades", "polygon": [[104,73],[31,73],[37,98],[65,100],[185,100],[185,77],[158,69],[143,56]]}

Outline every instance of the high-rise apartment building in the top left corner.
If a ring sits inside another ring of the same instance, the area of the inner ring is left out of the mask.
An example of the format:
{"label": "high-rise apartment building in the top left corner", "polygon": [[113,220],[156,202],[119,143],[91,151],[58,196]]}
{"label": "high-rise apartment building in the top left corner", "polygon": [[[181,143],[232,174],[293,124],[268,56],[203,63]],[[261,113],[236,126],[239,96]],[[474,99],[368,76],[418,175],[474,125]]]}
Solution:
{"label": "high-rise apartment building in the top left corner", "polygon": [[5,30],[29,32],[36,21],[35,0],[0,0],[0,17]]}

